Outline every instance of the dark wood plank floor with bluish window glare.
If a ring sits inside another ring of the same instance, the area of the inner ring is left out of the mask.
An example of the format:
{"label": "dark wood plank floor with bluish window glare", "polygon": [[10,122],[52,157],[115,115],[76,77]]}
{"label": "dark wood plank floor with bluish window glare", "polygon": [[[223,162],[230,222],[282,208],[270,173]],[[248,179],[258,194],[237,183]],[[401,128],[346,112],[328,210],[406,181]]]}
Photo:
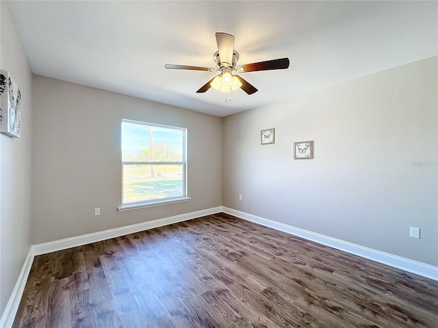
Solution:
{"label": "dark wood plank floor with bluish window glare", "polygon": [[438,327],[438,282],[220,213],[36,256],[14,327]]}

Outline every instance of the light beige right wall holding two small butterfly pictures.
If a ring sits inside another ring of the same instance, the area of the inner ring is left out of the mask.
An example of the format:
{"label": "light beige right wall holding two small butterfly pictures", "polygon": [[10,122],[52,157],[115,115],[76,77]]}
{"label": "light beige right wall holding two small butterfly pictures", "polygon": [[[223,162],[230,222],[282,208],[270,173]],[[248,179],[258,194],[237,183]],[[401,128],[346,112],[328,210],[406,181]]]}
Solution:
{"label": "light beige right wall holding two small butterfly pictures", "polygon": [[224,118],[223,205],[437,266],[437,76],[433,57]]}

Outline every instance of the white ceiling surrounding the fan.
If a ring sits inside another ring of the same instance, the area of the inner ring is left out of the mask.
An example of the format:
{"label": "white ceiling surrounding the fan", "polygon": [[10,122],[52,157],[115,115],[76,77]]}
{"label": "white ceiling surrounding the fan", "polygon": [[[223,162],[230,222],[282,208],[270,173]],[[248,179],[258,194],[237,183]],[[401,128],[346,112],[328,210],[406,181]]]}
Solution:
{"label": "white ceiling surrounding the fan", "polygon": [[[32,72],[226,116],[438,54],[437,1],[12,1]],[[235,36],[259,89],[196,90],[214,72],[214,33]]]}

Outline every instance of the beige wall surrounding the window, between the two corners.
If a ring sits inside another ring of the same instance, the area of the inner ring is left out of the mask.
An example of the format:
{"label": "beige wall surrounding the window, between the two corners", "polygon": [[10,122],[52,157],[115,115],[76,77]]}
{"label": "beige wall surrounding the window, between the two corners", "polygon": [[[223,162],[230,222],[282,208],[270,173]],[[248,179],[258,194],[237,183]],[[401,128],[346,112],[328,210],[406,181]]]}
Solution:
{"label": "beige wall surrounding the window, between the two corners", "polygon": [[[47,77],[33,82],[34,244],[222,205],[221,118]],[[116,210],[123,118],[188,128],[192,200]]]}

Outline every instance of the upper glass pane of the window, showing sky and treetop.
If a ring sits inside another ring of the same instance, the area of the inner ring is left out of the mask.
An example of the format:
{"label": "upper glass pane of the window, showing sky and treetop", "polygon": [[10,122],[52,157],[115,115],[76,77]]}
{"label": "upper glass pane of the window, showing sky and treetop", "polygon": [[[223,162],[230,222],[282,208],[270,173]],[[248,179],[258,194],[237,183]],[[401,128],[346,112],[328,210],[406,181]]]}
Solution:
{"label": "upper glass pane of the window, showing sky and treetop", "polygon": [[122,122],[123,161],[182,162],[183,143],[182,129]]}

